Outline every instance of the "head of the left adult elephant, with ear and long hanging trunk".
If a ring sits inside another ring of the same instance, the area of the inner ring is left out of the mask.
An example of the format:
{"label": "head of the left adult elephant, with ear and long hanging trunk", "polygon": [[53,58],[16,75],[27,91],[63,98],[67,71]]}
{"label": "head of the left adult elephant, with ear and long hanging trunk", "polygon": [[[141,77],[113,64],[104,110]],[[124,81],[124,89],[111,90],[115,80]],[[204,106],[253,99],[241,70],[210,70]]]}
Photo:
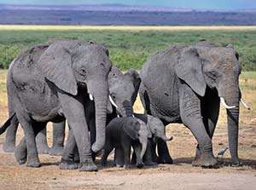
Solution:
{"label": "head of the left adult elephant, with ear and long hanging trunk", "polygon": [[[95,101],[96,142],[92,151],[98,152],[105,143],[108,100],[108,73],[112,63],[108,49],[96,43],[82,41],[57,41],[41,55],[39,72],[63,93],[81,95]],[[82,100],[81,100],[82,101]]]}

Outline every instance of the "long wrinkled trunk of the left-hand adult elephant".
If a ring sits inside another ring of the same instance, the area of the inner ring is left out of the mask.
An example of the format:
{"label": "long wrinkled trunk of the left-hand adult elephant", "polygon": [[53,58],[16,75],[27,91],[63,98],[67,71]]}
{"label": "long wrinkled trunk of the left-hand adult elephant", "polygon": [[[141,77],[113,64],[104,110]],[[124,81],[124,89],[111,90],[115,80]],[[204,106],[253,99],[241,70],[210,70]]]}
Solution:
{"label": "long wrinkled trunk of the left-hand adult elephant", "polygon": [[[97,80],[95,80],[97,81]],[[99,84],[101,83],[101,84]],[[107,119],[107,106],[108,106],[108,83],[105,81],[91,83],[93,90],[91,95],[95,101],[96,111],[96,141],[92,145],[91,150],[98,153],[102,150],[106,139],[106,119]],[[88,85],[88,92],[90,93],[90,85]]]}

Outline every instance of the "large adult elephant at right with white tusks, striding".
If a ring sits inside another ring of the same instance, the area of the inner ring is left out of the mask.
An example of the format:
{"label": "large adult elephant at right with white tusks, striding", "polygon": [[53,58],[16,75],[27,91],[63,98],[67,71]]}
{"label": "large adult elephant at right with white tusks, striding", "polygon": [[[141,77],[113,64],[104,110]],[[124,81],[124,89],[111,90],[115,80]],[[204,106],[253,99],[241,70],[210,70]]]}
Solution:
{"label": "large adult elephant at right with white tusks, striding", "polygon": [[[140,72],[139,89],[148,114],[164,124],[183,123],[198,142],[193,165],[217,164],[212,153],[212,135],[218,121],[219,97],[235,108],[227,109],[230,154],[233,164],[240,164],[238,145],[238,78],[241,65],[232,48],[209,42],[190,46],[175,45],[152,55]],[[160,142],[160,162],[172,162],[166,143]]]}

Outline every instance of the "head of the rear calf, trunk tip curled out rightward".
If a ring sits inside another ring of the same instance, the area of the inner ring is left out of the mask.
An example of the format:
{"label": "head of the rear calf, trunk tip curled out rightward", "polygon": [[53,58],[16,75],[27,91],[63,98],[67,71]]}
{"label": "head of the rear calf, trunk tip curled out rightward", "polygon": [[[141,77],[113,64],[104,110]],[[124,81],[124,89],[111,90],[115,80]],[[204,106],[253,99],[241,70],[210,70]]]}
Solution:
{"label": "head of the rear calf, trunk tip curled out rightward", "polygon": [[148,115],[148,128],[154,137],[160,138],[163,141],[172,141],[172,137],[166,136],[166,126],[161,122],[160,118],[154,118]]}

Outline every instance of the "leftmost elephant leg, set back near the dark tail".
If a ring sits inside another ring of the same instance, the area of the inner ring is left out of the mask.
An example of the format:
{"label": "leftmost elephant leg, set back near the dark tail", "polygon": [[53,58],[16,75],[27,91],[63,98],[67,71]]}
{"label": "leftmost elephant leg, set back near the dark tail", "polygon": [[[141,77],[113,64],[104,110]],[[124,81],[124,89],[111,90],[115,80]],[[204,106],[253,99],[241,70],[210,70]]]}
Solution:
{"label": "leftmost elephant leg, set back near the dark tail", "polygon": [[15,151],[16,131],[18,129],[18,125],[18,119],[13,118],[3,143],[3,151],[6,153],[13,153]]}

